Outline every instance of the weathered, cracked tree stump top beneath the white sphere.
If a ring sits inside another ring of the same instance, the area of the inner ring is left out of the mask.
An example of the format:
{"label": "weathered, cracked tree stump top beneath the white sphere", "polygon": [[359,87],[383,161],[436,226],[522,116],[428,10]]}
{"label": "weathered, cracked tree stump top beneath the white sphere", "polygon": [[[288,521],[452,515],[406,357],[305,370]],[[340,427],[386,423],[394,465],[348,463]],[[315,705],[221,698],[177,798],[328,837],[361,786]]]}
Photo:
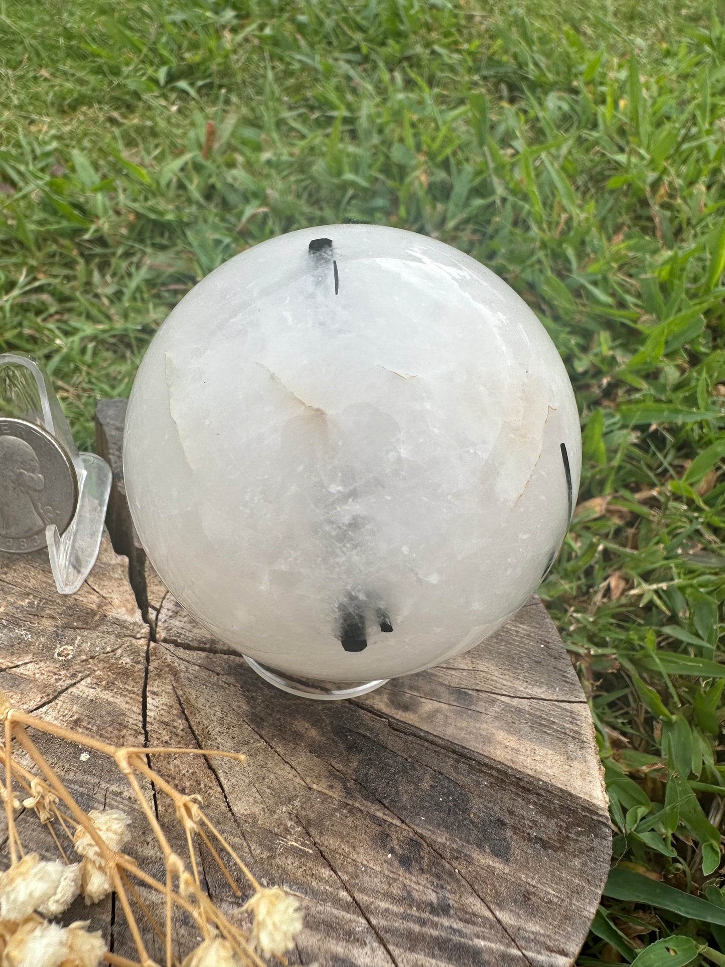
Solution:
{"label": "weathered, cracked tree stump top beneath the white sphere", "polygon": [[[604,886],[611,833],[589,710],[540,601],[466,655],[361,698],[279,691],[200,628],[146,561],[125,504],[124,411],[125,400],[102,401],[97,429],[114,473],[109,530],[126,556],[104,536],[81,590],[62,597],[45,551],[0,554],[0,689],[26,711],[116,745],[244,751],[244,764],[152,761],[181,791],[202,795],[261,882],[301,897],[290,964],[572,963]],[[162,879],[115,767],[37,738],[82,806],[130,812],[128,851]],[[171,825],[171,807],[160,800],[159,809]],[[25,812],[17,822],[26,849],[50,855],[38,824]],[[205,849],[201,860],[215,901],[238,907]],[[79,899],[69,911],[89,916],[114,952],[134,956],[111,898],[90,908]],[[188,950],[190,928],[179,929]],[[162,963],[160,944],[149,949]]]}

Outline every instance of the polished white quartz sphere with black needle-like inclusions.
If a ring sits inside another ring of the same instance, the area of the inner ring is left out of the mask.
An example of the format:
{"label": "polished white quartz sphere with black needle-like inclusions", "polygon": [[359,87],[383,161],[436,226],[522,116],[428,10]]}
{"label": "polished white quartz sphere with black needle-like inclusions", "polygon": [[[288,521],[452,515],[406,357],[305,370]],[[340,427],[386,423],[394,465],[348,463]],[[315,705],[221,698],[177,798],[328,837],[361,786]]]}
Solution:
{"label": "polished white quartz sphere with black needle-like inclusions", "polygon": [[362,224],[199,282],[139,367],[124,442],[133,521],[188,611],[281,672],[351,683],[500,628],[564,540],[580,465],[532,310],[468,255]]}

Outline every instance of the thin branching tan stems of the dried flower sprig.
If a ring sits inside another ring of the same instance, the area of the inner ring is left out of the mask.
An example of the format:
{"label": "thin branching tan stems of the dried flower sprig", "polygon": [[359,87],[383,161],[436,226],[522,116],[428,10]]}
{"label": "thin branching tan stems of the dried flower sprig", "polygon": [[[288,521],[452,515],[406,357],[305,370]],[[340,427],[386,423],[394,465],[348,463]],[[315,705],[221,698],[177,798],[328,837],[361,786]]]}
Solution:
{"label": "thin branching tan stems of the dried flower sprig", "polygon": [[[266,909],[269,911],[275,906],[276,914],[274,916],[276,920],[274,926],[280,932],[274,935],[274,942],[265,941],[264,943],[267,943],[268,946],[265,947],[263,944],[262,949],[267,955],[274,953],[282,963],[286,962],[280,953],[288,949],[289,944],[292,942],[291,938],[294,936],[294,932],[299,929],[301,923],[300,914],[295,912],[296,901],[290,900],[289,897],[285,898],[285,894],[276,889],[268,890],[265,888],[263,890],[230,843],[219,833],[214,824],[204,814],[201,808],[200,798],[196,795],[184,795],[176,790],[151,767],[150,759],[148,758],[151,754],[191,754],[206,757],[218,755],[243,762],[246,756],[236,752],[224,752],[213,749],[112,746],[93,736],[75,732],[65,726],[46,722],[41,718],[36,718],[18,709],[14,709],[7,700],[3,700],[2,695],[0,695],[0,718],[4,719],[5,744],[2,751],[6,774],[5,785],[3,786],[0,782],[0,795],[4,801],[8,818],[8,840],[12,865],[14,866],[19,862],[18,856],[24,856],[20,836],[14,822],[14,808],[19,808],[20,806],[14,799],[13,794],[13,782],[16,781],[19,787],[29,794],[29,798],[24,801],[23,805],[35,811],[40,822],[47,828],[65,863],[69,864],[70,861],[66,850],[63,848],[53,828],[55,820],[58,820],[63,832],[73,842],[76,851],[83,855],[83,864],[86,864],[82,867],[86,870],[83,876],[85,877],[87,875],[89,877],[89,884],[93,882],[92,887],[86,887],[86,881],[84,880],[83,890],[84,892],[86,890],[88,891],[86,893],[86,902],[95,901],[89,900],[89,895],[95,897],[103,895],[103,882],[107,884],[107,890],[112,889],[118,895],[129,930],[131,931],[133,943],[136,947],[138,960],[129,960],[117,953],[106,952],[104,959],[108,964],[113,965],[113,967],[158,967],[145,947],[141,928],[133,914],[131,900],[137,906],[145,921],[150,924],[153,934],[163,944],[166,967],[180,967],[181,959],[183,958],[183,954],[177,955],[173,949],[172,914],[175,906],[195,923],[204,938],[204,943],[209,943],[210,941],[217,943],[215,938],[220,935],[222,939],[218,940],[218,943],[222,943],[223,941],[228,944],[229,948],[227,949],[233,950],[240,962],[246,965],[246,967],[265,967],[264,961],[254,950],[254,944],[259,942],[260,934],[258,931],[260,924],[263,923],[260,918],[265,916],[263,912],[265,904],[267,905]],[[56,775],[55,771],[43,756],[43,753],[36,747],[35,743],[27,734],[27,726],[66,742],[90,748],[114,761],[119,771],[128,781],[133,797],[143,812],[151,832],[159,843],[165,866],[165,882],[161,883],[155,877],[149,875],[131,857],[119,851],[123,845],[124,838],[114,832],[112,825],[109,826],[107,824],[115,823],[117,827],[119,821],[121,821],[121,826],[125,830],[123,824],[124,822],[128,824],[128,817],[123,812],[119,813],[118,810],[115,812],[114,810],[109,810],[107,820],[104,820],[106,825],[97,827],[95,824],[97,822],[101,823],[103,813],[92,811],[89,815],[78,806],[62,779]],[[16,742],[18,746],[22,747],[34,766],[40,771],[41,775],[29,771],[25,766],[14,760],[13,742]],[[190,873],[185,865],[185,861],[172,849],[160,825],[156,811],[150,805],[141,788],[140,778],[150,781],[160,794],[167,796],[171,800],[177,819],[184,830]],[[65,811],[66,809],[68,812]],[[120,820],[118,817],[120,817]],[[118,835],[118,838],[109,839],[106,842],[104,835]],[[255,918],[251,939],[245,930],[229,921],[202,888],[199,876],[199,864],[194,847],[194,835],[199,835],[201,841],[209,849],[234,894],[240,896],[242,890],[235,881],[229,867],[224,862],[222,855],[220,855],[220,850],[217,849],[217,845],[221,850],[226,852],[254,891],[252,899],[255,902],[248,900],[246,906],[243,908],[249,910]],[[215,845],[215,841],[217,845]],[[85,844],[82,848],[81,842]],[[111,848],[109,843],[115,845],[117,848]],[[92,881],[92,877],[94,876],[96,879]],[[98,885],[99,877],[101,877],[100,887]],[[105,877],[105,880],[103,877]],[[165,922],[163,925],[161,925],[153,910],[144,902],[142,896],[131,882],[130,877],[134,877],[141,884],[152,889],[156,894],[163,896],[165,905]],[[281,897],[282,905],[276,899],[273,901],[272,894]],[[271,903],[272,906],[270,905]],[[288,914],[290,904],[292,904],[292,912]],[[262,912],[258,913],[258,911]],[[270,914],[270,916],[273,915]],[[289,919],[285,920],[284,918],[287,916]],[[40,918],[36,919],[39,923],[43,923]],[[264,921],[268,935],[269,930],[272,929],[273,920]],[[95,943],[98,944],[99,941],[97,940]],[[270,943],[273,945],[269,946]]]}

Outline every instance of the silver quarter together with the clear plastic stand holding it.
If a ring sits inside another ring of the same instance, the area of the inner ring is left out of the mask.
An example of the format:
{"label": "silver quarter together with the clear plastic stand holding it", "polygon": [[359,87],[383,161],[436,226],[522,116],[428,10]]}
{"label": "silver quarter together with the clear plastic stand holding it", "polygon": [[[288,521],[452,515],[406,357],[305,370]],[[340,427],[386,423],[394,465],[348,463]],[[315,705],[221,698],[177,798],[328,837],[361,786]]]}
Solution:
{"label": "silver quarter together with the clear plastic stand holding it", "polygon": [[58,591],[74,594],[96,563],[110,488],[110,467],[78,452],[43,369],[0,353],[0,551],[47,546]]}

